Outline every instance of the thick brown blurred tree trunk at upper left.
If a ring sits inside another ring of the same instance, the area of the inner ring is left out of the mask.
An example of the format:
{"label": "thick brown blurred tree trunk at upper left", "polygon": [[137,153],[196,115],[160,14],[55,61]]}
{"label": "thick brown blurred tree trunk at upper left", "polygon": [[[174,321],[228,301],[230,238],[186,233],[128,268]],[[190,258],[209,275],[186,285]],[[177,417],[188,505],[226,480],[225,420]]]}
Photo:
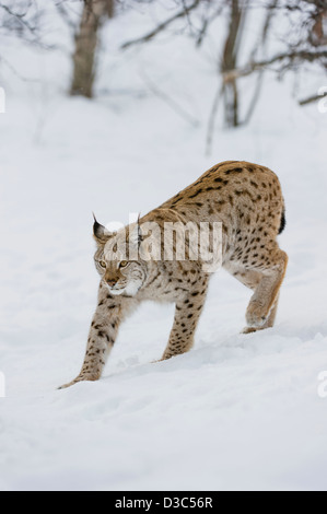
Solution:
{"label": "thick brown blurred tree trunk at upper left", "polygon": [[84,0],[79,34],[75,36],[71,95],[93,96],[97,32],[105,16],[113,16],[114,0]]}

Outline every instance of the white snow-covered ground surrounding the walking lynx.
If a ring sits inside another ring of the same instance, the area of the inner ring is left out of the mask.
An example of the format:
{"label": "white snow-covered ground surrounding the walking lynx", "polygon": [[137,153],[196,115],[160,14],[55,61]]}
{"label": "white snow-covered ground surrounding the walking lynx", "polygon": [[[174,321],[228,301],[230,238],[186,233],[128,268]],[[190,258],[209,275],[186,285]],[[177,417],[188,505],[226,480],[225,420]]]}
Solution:
{"label": "white snow-covered ground surrounding the walking lynx", "polygon": [[[113,22],[113,37],[127,39],[127,24]],[[218,128],[206,156],[217,78],[191,42],[177,43],[103,59],[98,90],[132,95],[66,97],[69,67],[56,52],[26,54],[24,73],[38,70],[42,84],[8,72],[1,490],[327,489],[327,384],[318,379],[327,371],[327,113],[297,107],[291,84],[267,75],[250,125]],[[22,48],[10,58],[24,68]],[[197,126],[147,89],[148,65]],[[312,83],[327,85],[322,75]],[[250,292],[220,271],[188,354],[151,363],[174,308],[144,304],[121,327],[100,382],[57,390],[79,372],[95,306],[92,211],[102,223],[127,222],[210,165],[238,159],[276,171],[285,197],[280,245],[290,261],[276,326],[240,335]]]}

